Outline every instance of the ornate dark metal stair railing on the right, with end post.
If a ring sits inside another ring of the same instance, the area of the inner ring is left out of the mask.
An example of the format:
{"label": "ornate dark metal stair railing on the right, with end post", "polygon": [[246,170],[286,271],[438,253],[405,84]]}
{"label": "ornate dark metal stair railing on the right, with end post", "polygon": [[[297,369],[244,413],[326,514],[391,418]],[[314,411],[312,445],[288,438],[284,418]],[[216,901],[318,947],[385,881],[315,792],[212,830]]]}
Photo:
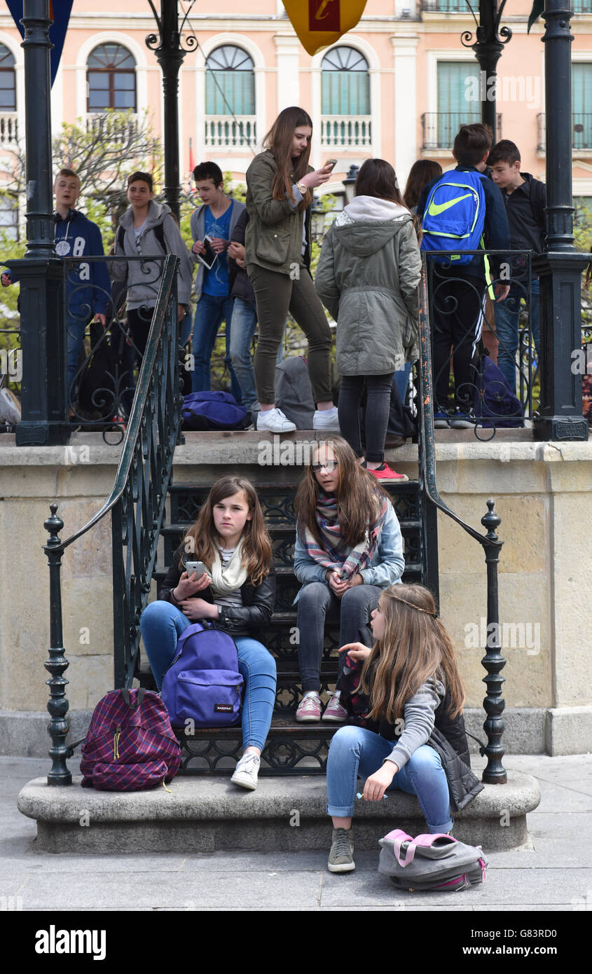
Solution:
{"label": "ornate dark metal stair railing on the right, with end post", "polygon": [[499,599],[498,599],[498,562],[499,550],[503,542],[499,541],[497,529],[499,528],[500,518],[494,510],[495,502],[487,502],[487,513],[481,518],[481,524],[487,529],[487,534],[481,535],[470,525],[465,524],[462,518],[455,514],[447,506],[438,493],[436,487],[436,462],[434,449],[433,431],[433,387],[431,373],[431,333],[430,333],[430,314],[427,287],[427,268],[425,254],[422,257],[422,280],[419,286],[420,298],[420,344],[421,344],[421,365],[419,374],[420,386],[420,408],[419,423],[420,431],[418,437],[419,469],[420,469],[420,490],[424,492],[425,498],[447,517],[451,517],[457,524],[460,524],[471,538],[480,543],[485,553],[487,565],[487,646],[486,654],[481,660],[487,670],[487,676],[483,682],[487,687],[487,693],[483,701],[483,707],[487,714],[483,730],[487,734],[487,746],[481,752],[487,756],[487,767],[483,771],[483,781],[487,784],[505,784],[507,774],[501,764],[504,754],[501,745],[501,735],[503,733],[503,720],[501,714],[505,707],[502,696],[502,685],[505,678],[500,675],[500,671],[505,666],[505,659],[501,656],[500,633],[499,633]]}

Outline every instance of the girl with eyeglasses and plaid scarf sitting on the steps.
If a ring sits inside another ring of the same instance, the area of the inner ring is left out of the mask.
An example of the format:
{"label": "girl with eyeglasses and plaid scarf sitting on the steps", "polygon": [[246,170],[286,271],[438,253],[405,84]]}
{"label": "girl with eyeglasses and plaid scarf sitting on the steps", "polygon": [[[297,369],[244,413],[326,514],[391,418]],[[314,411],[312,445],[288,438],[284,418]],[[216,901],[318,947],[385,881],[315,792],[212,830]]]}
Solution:
{"label": "girl with eyeglasses and plaid scarf sitting on the steps", "polygon": [[[335,436],[320,441],[295,500],[294,575],[302,701],[296,720],[321,719],[320,663],[325,620],[339,622],[340,645],[366,632],[381,592],[405,567],[399,522],[387,493]],[[343,670],[340,658],[339,673]],[[322,716],[341,723],[347,713],[334,693]]]}

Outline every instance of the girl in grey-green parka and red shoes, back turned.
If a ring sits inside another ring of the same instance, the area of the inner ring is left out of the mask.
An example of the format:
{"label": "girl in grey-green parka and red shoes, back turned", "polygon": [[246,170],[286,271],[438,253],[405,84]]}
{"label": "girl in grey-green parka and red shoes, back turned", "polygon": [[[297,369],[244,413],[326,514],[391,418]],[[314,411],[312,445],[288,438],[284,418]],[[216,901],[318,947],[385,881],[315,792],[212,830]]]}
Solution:
{"label": "girl in grey-green parka and red shoes, back turned", "polygon": [[364,466],[382,481],[407,479],[385,464],[385,437],[393,374],[418,356],[421,269],[413,217],[395,171],[384,159],[367,159],[355,198],[325,235],[314,283],[337,321],[342,435],[364,457],[358,404],[365,386]]}

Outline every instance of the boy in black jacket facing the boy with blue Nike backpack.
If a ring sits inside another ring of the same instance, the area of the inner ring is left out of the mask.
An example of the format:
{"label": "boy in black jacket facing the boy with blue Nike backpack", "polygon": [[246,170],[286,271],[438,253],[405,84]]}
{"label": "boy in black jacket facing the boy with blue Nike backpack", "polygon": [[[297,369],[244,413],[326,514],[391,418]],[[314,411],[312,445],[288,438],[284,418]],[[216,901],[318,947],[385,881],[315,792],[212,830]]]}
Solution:
{"label": "boy in black jacket facing the boy with blue Nike backpack", "polygon": [[[541,253],[547,232],[544,183],[535,179],[530,172],[520,171],[518,146],[507,138],[501,139],[494,146],[488,163],[492,169],[492,179],[499,186],[505,204],[512,250],[534,250],[536,254]],[[499,338],[498,366],[512,393],[515,393],[520,298],[525,298],[528,305],[529,275],[526,255],[524,258],[516,258],[512,264],[512,283],[508,298],[502,305],[496,306],[496,331]],[[532,278],[530,323],[538,353],[540,325],[536,276]]]}

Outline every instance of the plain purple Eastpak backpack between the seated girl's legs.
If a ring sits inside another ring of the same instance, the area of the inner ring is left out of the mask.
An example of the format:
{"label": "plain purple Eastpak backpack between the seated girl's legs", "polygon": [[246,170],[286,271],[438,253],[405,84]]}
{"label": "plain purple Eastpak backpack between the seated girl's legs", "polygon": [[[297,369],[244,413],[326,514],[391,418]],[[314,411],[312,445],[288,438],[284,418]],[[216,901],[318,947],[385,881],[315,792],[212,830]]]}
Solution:
{"label": "plain purple Eastpak backpack between the seated girl's legs", "polygon": [[240,720],[239,653],[232,636],[214,623],[194,622],[179,636],[163,677],[163,702],[173,727],[229,727]]}

